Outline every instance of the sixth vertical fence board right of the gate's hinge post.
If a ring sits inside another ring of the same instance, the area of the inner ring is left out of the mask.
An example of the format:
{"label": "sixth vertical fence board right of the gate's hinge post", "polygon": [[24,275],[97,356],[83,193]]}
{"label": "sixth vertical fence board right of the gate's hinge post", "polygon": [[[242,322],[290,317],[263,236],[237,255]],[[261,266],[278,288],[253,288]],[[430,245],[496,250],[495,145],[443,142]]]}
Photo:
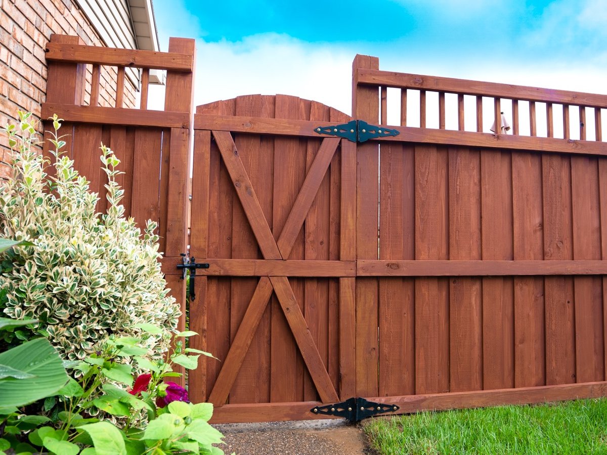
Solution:
{"label": "sixth vertical fence board right of the gate's hinge post", "polygon": [[[571,160],[543,155],[544,259],[573,259]],[[573,278],[544,278],[546,299],[546,385],[575,382]]]}

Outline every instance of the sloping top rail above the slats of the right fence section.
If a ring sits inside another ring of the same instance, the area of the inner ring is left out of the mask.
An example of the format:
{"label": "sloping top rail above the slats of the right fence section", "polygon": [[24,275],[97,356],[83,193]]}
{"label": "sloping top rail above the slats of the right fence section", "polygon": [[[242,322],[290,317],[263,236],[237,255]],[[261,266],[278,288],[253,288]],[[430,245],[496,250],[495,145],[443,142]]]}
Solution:
{"label": "sloping top rail above the slats of the right fence section", "polygon": [[607,109],[607,95],[570,92],[568,90],[548,90],[538,87],[515,86],[467,79],[441,78],[409,73],[381,70],[357,69],[355,81],[358,84],[395,87],[400,89],[432,90],[434,92],[461,93],[462,95],[494,96],[496,98],[546,103],[574,104],[577,106]]}

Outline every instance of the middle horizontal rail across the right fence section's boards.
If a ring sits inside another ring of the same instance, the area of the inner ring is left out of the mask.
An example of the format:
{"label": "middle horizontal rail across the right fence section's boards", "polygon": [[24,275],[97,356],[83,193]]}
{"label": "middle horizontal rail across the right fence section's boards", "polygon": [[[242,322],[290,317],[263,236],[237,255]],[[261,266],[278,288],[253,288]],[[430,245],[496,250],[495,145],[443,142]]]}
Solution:
{"label": "middle horizontal rail across the right fence section's boards", "polygon": [[605,275],[607,261],[356,261],[358,277]]}

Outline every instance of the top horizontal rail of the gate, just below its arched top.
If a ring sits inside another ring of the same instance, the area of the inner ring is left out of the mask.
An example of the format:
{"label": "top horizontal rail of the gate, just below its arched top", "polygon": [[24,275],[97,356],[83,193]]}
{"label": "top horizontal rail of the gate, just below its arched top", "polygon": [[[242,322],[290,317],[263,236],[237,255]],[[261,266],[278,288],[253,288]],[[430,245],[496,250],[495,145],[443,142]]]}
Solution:
{"label": "top horizontal rail of the gate, just below its arched top", "polygon": [[194,114],[194,129],[196,130],[326,138],[332,136],[320,135],[314,131],[314,128],[331,126],[334,124],[336,123],[310,120]]}

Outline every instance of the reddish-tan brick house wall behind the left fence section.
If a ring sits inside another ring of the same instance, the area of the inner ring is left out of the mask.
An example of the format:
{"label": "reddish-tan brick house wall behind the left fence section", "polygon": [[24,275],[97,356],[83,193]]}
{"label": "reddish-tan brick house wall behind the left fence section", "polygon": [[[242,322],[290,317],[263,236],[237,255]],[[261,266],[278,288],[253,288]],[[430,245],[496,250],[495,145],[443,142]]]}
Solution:
{"label": "reddish-tan brick house wall behind the left fence section", "polygon": [[[105,45],[74,0],[0,0],[0,127],[15,122],[18,110],[40,115],[46,99],[44,48],[52,33],[80,36],[84,44]],[[100,106],[114,106],[116,70],[101,67]],[[128,77],[124,107],[135,106],[135,87]],[[90,101],[88,66],[84,103]],[[41,130],[41,127],[39,127]],[[10,150],[0,134],[0,179],[7,177]]]}

